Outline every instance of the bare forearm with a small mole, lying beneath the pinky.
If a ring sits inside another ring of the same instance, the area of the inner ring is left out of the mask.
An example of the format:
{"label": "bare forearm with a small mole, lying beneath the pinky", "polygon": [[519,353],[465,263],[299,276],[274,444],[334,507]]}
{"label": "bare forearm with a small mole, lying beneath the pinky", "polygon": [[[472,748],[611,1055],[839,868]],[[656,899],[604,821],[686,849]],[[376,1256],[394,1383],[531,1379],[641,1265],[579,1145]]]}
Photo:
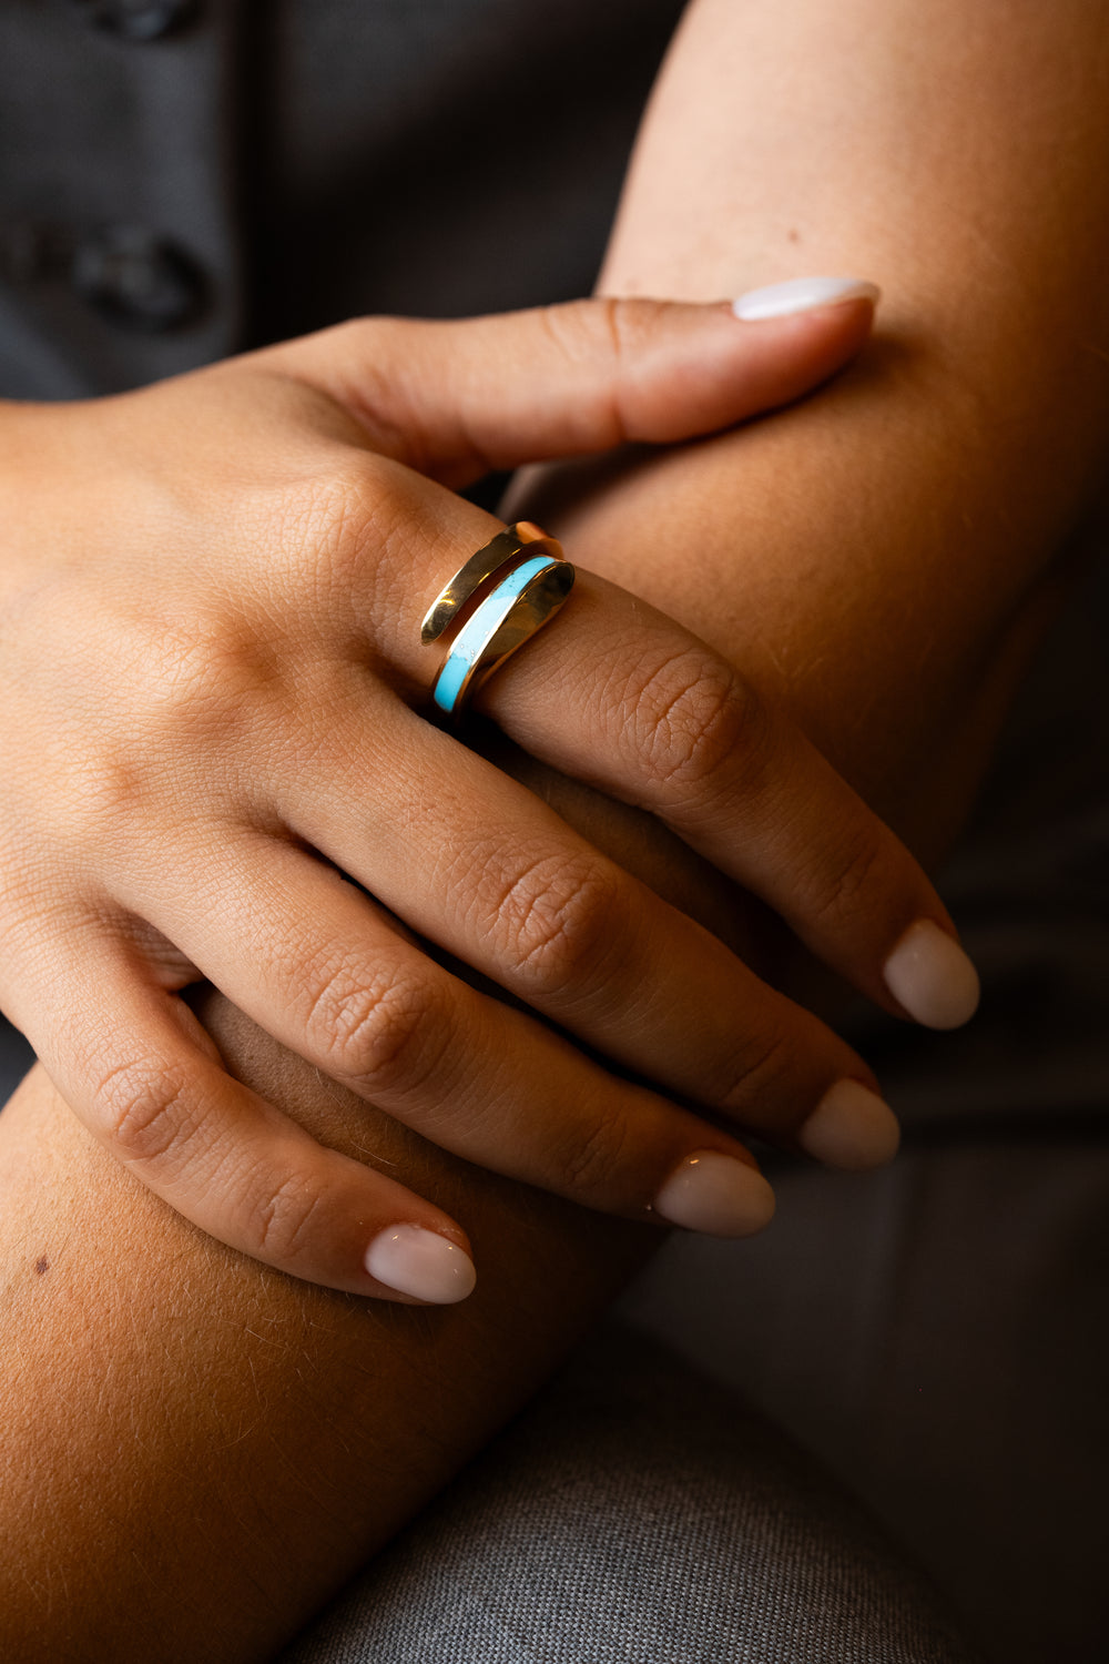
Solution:
{"label": "bare forearm with a small mole, lying beneath the pinky", "polygon": [[35,1072],[0,1115],[0,1651],[269,1657],[520,1404],[650,1228],[421,1146],[223,1007],[228,1060],[466,1218],[461,1306],[367,1303],[205,1238]]}

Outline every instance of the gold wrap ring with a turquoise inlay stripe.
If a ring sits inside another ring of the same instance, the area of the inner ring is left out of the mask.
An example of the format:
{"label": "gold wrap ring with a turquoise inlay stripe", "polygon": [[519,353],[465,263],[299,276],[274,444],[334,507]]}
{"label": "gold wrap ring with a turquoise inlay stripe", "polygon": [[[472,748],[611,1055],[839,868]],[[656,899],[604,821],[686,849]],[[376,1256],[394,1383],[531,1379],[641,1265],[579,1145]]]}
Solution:
{"label": "gold wrap ring with a turquoise inlay stripe", "polygon": [[[527,531],[530,536],[520,537],[520,531]],[[529,556],[529,546],[535,544],[544,547],[544,552]],[[482,576],[471,582],[469,596],[456,599],[462,574],[469,577],[471,571],[481,571]],[[492,544],[479,549],[477,556],[472,556],[462,572],[456,574],[447,589],[441,592],[427,617],[436,614],[436,607],[442,607],[444,597],[451,599],[451,611],[459,614],[466,599],[471,599],[482,587],[482,579],[487,581],[499,572],[505,576],[459,626],[436,677],[432,699],[447,716],[462,712],[466,702],[494,671],[499,671],[517,647],[530,641],[555,616],[574,587],[574,567],[562,559],[562,549],[555,539],[547,537],[537,526],[525,521],[520,526],[509,526],[507,532],[499,532]],[[451,619],[441,624],[439,632],[446,631],[449,622]]]}

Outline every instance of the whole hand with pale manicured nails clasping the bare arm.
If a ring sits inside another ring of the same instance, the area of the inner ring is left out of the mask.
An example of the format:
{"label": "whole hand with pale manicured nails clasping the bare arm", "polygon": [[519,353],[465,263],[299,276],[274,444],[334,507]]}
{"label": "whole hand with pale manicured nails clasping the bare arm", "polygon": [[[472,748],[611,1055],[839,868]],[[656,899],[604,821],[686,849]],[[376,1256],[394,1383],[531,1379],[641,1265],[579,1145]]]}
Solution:
{"label": "whole hand with pale manicured nails clasping the bare arm", "polygon": [[[3,413],[0,997],[198,1226],[354,1293],[472,1283],[444,1213],[224,1073],[176,997],[201,977],[474,1161],[632,1218],[766,1221],[732,1137],[409,932],[742,1128],[835,1165],[891,1155],[841,1040],[421,714],[419,619],[497,529],[446,486],[732,424],[830,374],[868,321],[865,301],[760,324],[657,303],[369,319]],[[928,1005],[959,950],[908,852],[678,626],[582,574],[477,704],[650,809],[890,1010],[964,1015]]]}

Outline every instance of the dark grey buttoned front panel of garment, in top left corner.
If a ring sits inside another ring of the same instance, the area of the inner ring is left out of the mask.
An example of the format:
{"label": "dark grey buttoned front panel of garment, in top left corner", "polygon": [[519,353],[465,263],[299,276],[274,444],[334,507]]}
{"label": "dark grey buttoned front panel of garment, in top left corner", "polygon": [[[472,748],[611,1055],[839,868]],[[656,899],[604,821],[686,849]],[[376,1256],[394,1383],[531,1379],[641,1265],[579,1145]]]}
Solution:
{"label": "dark grey buttoned front panel of garment, in top left corner", "polygon": [[[131,42],[70,0],[0,7],[0,398],[113,393],[226,356],[243,334],[238,243],[239,28]],[[203,275],[188,328],[135,331],[75,288],[108,228],[185,251]]]}

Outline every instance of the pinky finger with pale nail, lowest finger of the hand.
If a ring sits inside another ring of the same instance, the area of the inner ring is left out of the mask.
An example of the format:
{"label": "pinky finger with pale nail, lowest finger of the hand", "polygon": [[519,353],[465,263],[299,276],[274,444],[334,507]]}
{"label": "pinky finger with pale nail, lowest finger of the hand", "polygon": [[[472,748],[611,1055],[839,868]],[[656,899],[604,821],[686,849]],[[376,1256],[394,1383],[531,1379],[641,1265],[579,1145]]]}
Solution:
{"label": "pinky finger with pale nail, lowest finger of the hand", "polygon": [[[224,1072],[180,998],[105,958],[98,1008],[63,1040],[43,1035],[40,1058],[136,1178],[201,1231],[289,1276],[379,1300],[466,1300],[474,1263],[446,1213],[316,1143]],[[90,967],[80,973],[88,985]]]}

